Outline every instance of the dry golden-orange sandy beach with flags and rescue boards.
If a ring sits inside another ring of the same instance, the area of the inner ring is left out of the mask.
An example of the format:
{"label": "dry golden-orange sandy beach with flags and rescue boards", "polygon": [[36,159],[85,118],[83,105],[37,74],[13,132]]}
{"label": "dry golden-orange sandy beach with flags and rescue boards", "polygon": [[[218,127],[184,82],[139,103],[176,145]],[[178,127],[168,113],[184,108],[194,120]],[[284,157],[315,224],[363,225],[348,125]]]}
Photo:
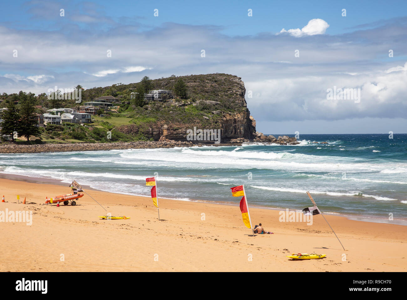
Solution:
{"label": "dry golden-orange sandy beach with flags and rescue boards", "polygon": [[[253,223],[274,233],[253,237],[237,205],[159,199],[159,221],[151,198],[85,191],[112,216],[130,219],[101,220],[106,211],[86,194],[76,206],[40,205],[70,188],[0,179],[0,211],[33,212],[29,226],[0,222],[0,271],[407,271],[402,225],[328,215],[344,251],[319,215],[309,226],[250,208]],[[292,253],[326,258],[285,257]]]}

